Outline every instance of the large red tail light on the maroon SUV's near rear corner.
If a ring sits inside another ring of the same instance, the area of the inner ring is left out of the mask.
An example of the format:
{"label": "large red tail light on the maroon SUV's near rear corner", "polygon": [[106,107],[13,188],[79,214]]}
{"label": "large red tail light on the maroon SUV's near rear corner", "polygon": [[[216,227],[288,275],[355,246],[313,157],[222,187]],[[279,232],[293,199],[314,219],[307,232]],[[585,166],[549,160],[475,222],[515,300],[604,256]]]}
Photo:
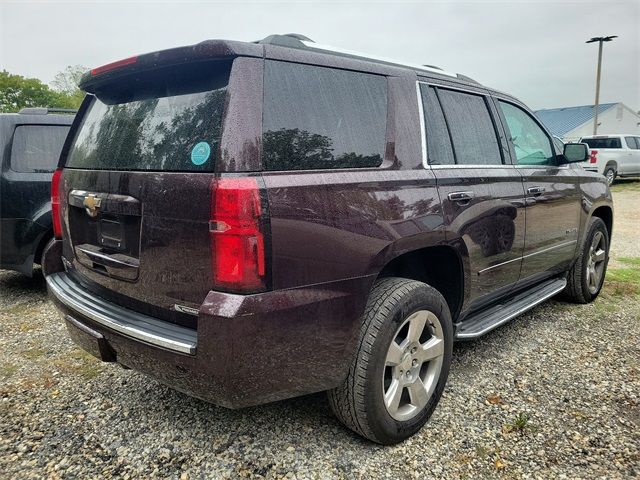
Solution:
{"label": "large red tail light on the maroon SUV's near rear corner", "polygon": [[262,207],[255,178],[212,182],[211,268],[214,287],[250,292],[264,288]]}

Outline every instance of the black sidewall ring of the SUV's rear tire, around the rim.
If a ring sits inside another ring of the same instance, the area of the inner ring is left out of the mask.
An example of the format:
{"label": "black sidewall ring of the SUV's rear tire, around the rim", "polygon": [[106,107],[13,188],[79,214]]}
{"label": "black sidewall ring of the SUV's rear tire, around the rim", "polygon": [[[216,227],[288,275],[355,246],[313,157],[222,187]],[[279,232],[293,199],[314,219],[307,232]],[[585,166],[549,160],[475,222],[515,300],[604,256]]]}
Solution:
{"label": "black sidewall ring of the SUV's rear tire, around the rim", "polygon": [[[445,342],[442,368],[440,370],[438,384],[424,410],[411,420],[400,422],[389,415],[384,405],[382,377],[387,351],[395,333],[407,317],[419,310],[431,311],[438,317],[442,325]],[[389,312],[386,321],[376,335],[372,349],[371,368],[367,369],[366,378],[367,391],[372,392],[372,395],[365,397],[367,404],[366,411],[370,412],[373,416],[369,424],[380,443],[397,443],[416,433],[426,423],[437,406],[446,385],[451,366],[452,350],[453,325],[449,308],[444,298],[437,293],[434,294],[426,285],[424,285],[423,288],[412,289],[411,292],[403,298],[403,301],[398,302],[396,308]]]}

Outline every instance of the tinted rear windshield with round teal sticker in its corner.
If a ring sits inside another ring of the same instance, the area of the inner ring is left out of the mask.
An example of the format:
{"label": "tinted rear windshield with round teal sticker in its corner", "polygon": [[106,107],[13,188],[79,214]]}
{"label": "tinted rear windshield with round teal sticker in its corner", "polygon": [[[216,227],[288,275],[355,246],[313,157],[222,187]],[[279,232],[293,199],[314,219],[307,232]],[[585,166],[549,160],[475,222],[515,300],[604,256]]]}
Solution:
{"label": "tinted rear windshield with round teal sticker in its corner", "polygon": [[229,72],[208,62],[114,81],[91,100],[66,166],[212,171]]}

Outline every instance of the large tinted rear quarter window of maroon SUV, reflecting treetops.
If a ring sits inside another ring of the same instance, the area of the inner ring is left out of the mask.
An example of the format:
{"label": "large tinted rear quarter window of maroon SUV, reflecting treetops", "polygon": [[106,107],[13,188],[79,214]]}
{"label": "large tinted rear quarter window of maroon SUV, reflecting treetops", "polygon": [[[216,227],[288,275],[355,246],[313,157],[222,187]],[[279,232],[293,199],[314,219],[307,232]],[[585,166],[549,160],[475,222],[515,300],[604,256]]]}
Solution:
{"label": "large tinted rear quarter window of maroon SUV, reflecting treetops", "polygon": [[386,120],[385,77],[265,64],[266,170],[377,167],[384,158]]}

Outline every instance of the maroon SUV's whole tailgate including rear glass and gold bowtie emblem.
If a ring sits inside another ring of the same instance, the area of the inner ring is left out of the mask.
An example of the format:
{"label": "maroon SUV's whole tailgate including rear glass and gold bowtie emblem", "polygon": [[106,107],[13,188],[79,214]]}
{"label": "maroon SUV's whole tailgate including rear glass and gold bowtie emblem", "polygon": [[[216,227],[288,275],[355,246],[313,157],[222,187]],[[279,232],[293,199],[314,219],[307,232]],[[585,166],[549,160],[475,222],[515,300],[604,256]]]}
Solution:
{"label": "maroon SUV's whole tailgate including rear glass and gold bowtie emblem", "polygon": [[231,61],[119,79],[83,105],[63,172],[67,266],[97,295],[176,323],[211,288],[211,192]]}

